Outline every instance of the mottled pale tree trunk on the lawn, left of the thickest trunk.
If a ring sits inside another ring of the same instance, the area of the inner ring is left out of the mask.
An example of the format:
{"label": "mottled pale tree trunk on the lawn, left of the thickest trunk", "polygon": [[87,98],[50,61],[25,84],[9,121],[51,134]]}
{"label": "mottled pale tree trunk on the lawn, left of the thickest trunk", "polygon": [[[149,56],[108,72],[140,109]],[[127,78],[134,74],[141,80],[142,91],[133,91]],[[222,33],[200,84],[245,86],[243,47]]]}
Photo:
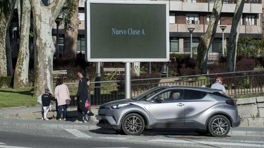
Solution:
{"label": "mottled pale tree trunk on the lawn, left of the thickest trunk", "polygon": [[29,86],[29,28],[31,7],[29,0],[24,0],[22,3],[20,44],[14,76],[14,88]]}

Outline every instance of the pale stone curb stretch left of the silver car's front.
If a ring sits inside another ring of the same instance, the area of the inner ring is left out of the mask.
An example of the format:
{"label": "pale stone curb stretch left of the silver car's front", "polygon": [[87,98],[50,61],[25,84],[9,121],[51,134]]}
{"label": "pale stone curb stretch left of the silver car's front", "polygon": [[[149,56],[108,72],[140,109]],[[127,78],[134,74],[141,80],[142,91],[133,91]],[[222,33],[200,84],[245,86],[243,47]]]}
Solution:
{"label": "pale stone curb stretch left of the silver car's front", "polygon": [[16,122],[0,122],[1,126],[12,126],[12,127],[48,127],[58,129],[87,129],[95,130],[100,129],[96,125],[76,125],[76,124],[52,124],[52,123],[16,123]]}

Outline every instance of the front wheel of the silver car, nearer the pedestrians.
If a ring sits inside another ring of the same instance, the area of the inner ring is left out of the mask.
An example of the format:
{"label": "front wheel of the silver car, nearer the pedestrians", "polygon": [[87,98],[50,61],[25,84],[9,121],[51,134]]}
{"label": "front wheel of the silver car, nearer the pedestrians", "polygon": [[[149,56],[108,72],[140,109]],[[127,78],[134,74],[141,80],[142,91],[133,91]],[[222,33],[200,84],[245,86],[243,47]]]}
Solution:
{"label": "front wheel of the silver car, nearer the pedestrians", "polygon": [[128,114],[122,121],[122,129],[127,135],[139,135],[144,130],[143,118],[135,113]]}

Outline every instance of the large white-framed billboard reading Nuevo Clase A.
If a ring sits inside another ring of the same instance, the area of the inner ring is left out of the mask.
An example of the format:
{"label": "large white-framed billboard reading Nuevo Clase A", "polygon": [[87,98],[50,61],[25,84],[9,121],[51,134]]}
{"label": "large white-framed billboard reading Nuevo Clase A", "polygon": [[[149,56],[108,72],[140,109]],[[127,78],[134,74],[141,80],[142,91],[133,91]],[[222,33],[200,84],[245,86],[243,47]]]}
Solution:
{"label": "large white-framed billboard reading Nuevo Clase A", "polygon": [[168,1],[86,1],[86,60],[168,61],[168,17]]}

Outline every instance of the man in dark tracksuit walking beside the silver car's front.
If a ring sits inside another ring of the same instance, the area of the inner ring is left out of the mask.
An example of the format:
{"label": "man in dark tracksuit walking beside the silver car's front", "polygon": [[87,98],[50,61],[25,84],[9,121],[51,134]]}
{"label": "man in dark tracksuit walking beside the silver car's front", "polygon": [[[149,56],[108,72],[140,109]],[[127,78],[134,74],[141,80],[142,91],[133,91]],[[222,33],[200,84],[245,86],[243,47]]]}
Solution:
{"label": "man in dark tracksuit walking beside the silver car's front", "polygon": [[88,86],[87,86],[87,78],[83,77],[84,71],[78,71],[78,76],[80,77],[79,80],[79,86],[78,86],[78,92],[74,98],[74,100],[79,101],[78,103],[78,117],[77,120],[74,122],[82,123],[82,112],[85,112],[88,116],[93,116],[94,114],[89,111],[88,109],[85,109],[85,101],[88,98]]}

